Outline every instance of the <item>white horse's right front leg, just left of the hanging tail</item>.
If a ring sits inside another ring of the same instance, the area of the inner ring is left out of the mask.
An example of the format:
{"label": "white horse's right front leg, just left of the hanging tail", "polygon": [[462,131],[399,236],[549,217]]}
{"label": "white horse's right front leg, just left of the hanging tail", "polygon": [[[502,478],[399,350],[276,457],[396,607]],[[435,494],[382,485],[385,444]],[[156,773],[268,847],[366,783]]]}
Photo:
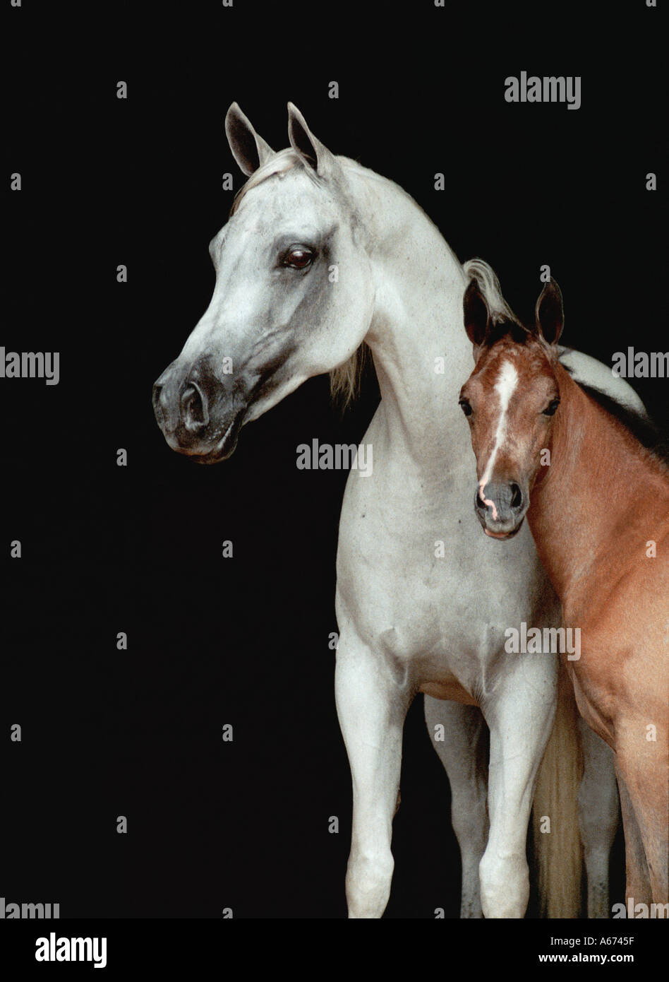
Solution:
{"label": "white horse's right front leg, just left of the hanging tail", "polygon": [[525,915],[530,897],[528,821],[555,718],[554,659],[532,655],[514,667],[507,664],[482,706],[490,729],[490,834],[479,867],[487,918]]}

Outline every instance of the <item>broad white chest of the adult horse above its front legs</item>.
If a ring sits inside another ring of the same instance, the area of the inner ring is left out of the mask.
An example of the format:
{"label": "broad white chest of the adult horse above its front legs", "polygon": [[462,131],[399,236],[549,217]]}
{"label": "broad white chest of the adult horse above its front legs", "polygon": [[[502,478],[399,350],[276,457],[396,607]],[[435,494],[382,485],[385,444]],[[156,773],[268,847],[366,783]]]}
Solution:
{"label": "broad white chest of the adult horse above its front legs", "polygon": [[504,657],[507,627],[555,617],[529,529],[490,541],[473,489],[453,472],[437,494],[383,470],[353,476],[337,552],[337,616],[424,691],[459,701],[458,682],[471,692]]}

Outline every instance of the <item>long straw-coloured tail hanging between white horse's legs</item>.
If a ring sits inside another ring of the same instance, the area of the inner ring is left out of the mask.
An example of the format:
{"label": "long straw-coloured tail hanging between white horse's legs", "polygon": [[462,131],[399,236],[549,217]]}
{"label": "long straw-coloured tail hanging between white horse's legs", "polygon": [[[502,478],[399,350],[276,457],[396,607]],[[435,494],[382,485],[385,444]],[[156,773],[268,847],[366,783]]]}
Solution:
{"label": "long straw-coloured tail hanging between white horse's legs", "polygon": [[560,662],[555,723],[541,761],[532,816],[541,917],[578,917],[581,912],[577,795],[583,750],[578,717],[572,684]]}

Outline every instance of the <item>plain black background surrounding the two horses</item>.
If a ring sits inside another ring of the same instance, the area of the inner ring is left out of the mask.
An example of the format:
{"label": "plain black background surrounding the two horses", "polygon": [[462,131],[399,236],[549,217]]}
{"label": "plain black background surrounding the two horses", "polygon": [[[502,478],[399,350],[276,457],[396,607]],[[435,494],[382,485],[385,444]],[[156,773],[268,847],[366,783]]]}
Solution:
{"label": "plain black background surrounding the two horses", "polygon": [[[5,10],[3,187],[19,171],[23,190],[4,191],[0,344],[61,353],[58,386],[0,381],[8,902],[59,901],[62,917],[345,915],[350,777],[328,639],[346,475],[296,470],[295,447],[361,439],[374,375],[343,418],[327,379],[310,380],[213,468],[168,449],[151,385],[211,296],[222,175],[242,183],[223,132],[233,100],[275,148],[295,102],[335,153],[412,194],[462,261],[487,259],[521,316],[549,263],[566,344],[608,364],[628,345],[665,350],[661,12],[580,7]],[[504,78],[523,70],[580,75],[581,109],[507,104]],[[669,422],[666,380],[635,384]],[[386,917],[455,917],[448,783],[422,698],[401,787]],[[611,900],[621,864],[619,837]]]}

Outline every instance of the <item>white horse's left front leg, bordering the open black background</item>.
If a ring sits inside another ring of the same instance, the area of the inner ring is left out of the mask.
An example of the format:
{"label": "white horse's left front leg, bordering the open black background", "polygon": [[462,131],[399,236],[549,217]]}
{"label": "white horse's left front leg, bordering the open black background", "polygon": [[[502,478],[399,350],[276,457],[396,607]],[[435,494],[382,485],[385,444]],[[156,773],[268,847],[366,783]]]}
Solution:
{"label": "white horse's left front leg, bordering the open black background", "polygon": [[346,871],[349,917],[381,917],[390,895],[392,817],[402,760],[402,729],[413,691],[393,678],[383,657],[342,635],[335,699],[353,783],[351,851]]}

